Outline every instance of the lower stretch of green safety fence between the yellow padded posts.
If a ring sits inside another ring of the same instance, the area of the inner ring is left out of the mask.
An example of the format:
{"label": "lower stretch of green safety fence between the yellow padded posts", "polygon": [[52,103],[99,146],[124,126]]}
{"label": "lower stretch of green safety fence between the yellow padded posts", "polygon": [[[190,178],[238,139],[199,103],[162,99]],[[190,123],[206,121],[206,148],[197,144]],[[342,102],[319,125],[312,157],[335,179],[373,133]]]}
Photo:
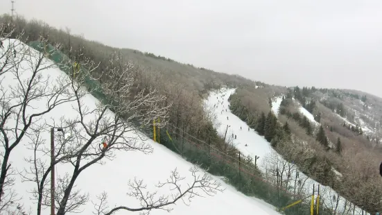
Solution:
{"label": "lower stretch of green safety fence between the yellow padded posts", "polygon": [[318,193],[296,193],[288,190],[280,185],[274,173],[264,175],[254,166],[252,160],[243,157],[240,152],[229,155],[214,147],[216,143],[202,141],[172,124],[168,124],[167,129],[154,129],[152,134],[154,133],[159,136],[153,136],[158,143],[182,155],[189,162],[200,165],[212,175],[223,177],[225,182],[245,195],[261,198],[285,214],[318,214],[316,203],[321,210],[319,214],[333,214],[331,209],[323,207],[323,202],[318,201]]}

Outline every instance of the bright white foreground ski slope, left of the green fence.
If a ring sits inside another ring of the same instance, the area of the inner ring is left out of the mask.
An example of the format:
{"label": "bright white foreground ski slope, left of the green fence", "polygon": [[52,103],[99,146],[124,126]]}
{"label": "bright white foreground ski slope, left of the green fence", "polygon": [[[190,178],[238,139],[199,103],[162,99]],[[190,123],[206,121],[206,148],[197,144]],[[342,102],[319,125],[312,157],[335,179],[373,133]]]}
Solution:
{"label": "bright white foreground ski slope, left of the green fence", "polygon": [[[4,47],[8,46],[8,40],[3,41]],[[10,43],[14,41],[10,40]],[[18,42],[16,42],[18,43]],[[36,53],[34,49],[28,48],[25,44],[17,46],[17,52],[20,49],[29,49],[31,53]],[[0,49],[0,51],[3,51]],[[19,54],[17,54],[17,58]],[[51,63],[50,60],[43,62],[48,65]],[[28,68],[28,62],[21,61],[21,67]],[[31,71],[26,69],[20,73],[21,80],[26,80],[31,78]],[[60,69],[51,68],[42,70],[40,73],[44,78],[50,78],[49,83],[39,83],[44,87],[54,87],[55,83],[58,80],[67,80],[69,77]],[[6,89],[10,87],[15,87],[17,85],[17,80],[15,76],[12,76],[12,73],[8,71],[6,74],[1,76],[2,82],[1,85]],[[6,94],[10,94],[8,90]],[[3,92],[1,92],[4,96]],[[87,94],[82,102],[84,105],[92,109],[95,107],[99,101],[97,101],[94,96]],[[33,107],[28,107],[26,109],[26,114],[32,114],[33,112],[39,112],[44,110],[47,105],[47,99],[42,98],[40,101],[33,104]],[[76,107],[75,102],[65,103],[55,107],[49,114],[42,117],[42,121],[46,123],[52,123],[53,120],[57,123],[60,120],[60,117],[67,117],[70,119],[75,119],[78,117],[78,112],[73,110],[73,107]],[[113,113],[108,112],[108,115],[112,117]],[[8,123],[8,126],[14,126],[11,123]],[[130,137],[133,137],[134,133],[129,133]],[[49,132],[46,131],[42,133],[42,137],[46,140],[45,146],[50,147]],[[2,139],[3,136],[0,135]],[[24,157],[33,156],[33,150],[28,150],[26,146],[28,145],[30,139],[23,139],[21,144],[12,151],[10,162],[12,162],[12,167],[23,171],[24,168],[28,169],[30,165],[24,161]],[[117,152],[116,157],[113,160],[106,160],[104,165],[96,164],[91,166],[89,169],[85,169],[83,173],[80,174],[78,180],[76,181],[76,188],[81,189],[85,193],[89,193],[89,201],[81,207],[80,214],[92,214],[94,212],[94,205],[92,201],[96,201],[96,196],[100,195],[103,191],[106,191],[108,194],[108,202],[111,207],[114,206],[128,206],[128,207],[140,207],[139,201],[135,198],[132,198],[126,193],[128,190],[128,181],[134,180],[135,177],[138,179],[143,179],[146,184],[148,184],[147,191],[155,191],[157,187],[154,187],[154,184],[157,182],[165,181],[168,176],[171,175],[171,171],[177,168],[180,175],[186,177],[186,182],[192,182],[193,177],[189,172],[189,169],[193,164],[186,162],[180,155],[177,155],[171,150],[168,150],[164,146],[155,143],[151,139],[146,139],[144,141],[146,144],[150,144],[153,147],[153,153],[145,155],[137,151],[130,152]],[[41,155],[44,157],[44,160],[49,161],[49,155]],[[58,164],[56,165],[57,175],[64,175],[65,173],[72,173],[72,167],[69,164]],[[270,205],[263,203],[263,201],[254,199],[248,196],[245,196],[243,193],[240,193],[234,189],[234,187],[225,184],[223,180],[220,180],[217,177],[214,177],[218,180],[225,191],[223,193],[218,192],[216,196],[205,196],[205,198],[196,197],[193,198],[190,205],[185,205],[182,203],[182,200],[177,202],[177,205],[172,205],[173,211],[171,214],[184,214],[184,215],[193,215],[193,214],[220,214],[220,215],[232,215],[232,214],[278,214]],[[59,185],[59,182],[57,182]],[[186,186],[186,184],[184,184]],[[32,210],[32,214],[36,212],[35,200],[30,200],[32,194],[29,192],[36,185],[33,182],[22,182],[19,175],[16,175],[15,189],[19,196],[22,198],[21,202],[24,204],[24,208],[28,211]],[[159,195],[171,195],[170,188],[159,190]],[[48,197],[50,198],[50,197]],[[186,201],[187,202],[187,201]],[[119,211],[115,214],[138,214],[139,212],[128,212],[128,211]],[[50,214],[49,208],[45,208],[42,214]],[[70,213],[67,213],[70,214]],[[161,209],[154,209],[150,214],[168,214],[168,212]]]}

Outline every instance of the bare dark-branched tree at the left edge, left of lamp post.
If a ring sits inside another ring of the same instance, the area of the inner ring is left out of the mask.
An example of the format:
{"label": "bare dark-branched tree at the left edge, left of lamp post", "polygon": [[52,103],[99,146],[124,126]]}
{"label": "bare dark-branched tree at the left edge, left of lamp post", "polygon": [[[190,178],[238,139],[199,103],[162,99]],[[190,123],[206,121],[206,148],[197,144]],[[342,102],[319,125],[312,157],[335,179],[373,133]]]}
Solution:
{"label": "bare dark-branched tree at the left edge, left of lamp post", "polygon": [[[0,141],[1,141],[1,173],[0,204],[15,203],[12,187],[15,173],[10,164],[10,156],[21,143],[21,139],[31,137],[33,130],[41,129],[44,122],[42,116],[48,114],[58,105],[75,101],[75,94],[66,94],[69,83],[62,83],[62,78],[52,79],[42,76],[47,69],[56,67],[55,63],[46,60],[46,53],[31,49],[21,43],[22,33],[16,39],[10,39],[10,25],[1,30],[4,49],[1,51],[0,68]],[[45,46],[46,40],[40,37],[40,44]],[[58,83],[51,87],[48,83]],[[62,96],[65,94],[65,96]],[[38,110],[37,103],[44,104]],[[18,206],[17,206],[18,207]]]}

